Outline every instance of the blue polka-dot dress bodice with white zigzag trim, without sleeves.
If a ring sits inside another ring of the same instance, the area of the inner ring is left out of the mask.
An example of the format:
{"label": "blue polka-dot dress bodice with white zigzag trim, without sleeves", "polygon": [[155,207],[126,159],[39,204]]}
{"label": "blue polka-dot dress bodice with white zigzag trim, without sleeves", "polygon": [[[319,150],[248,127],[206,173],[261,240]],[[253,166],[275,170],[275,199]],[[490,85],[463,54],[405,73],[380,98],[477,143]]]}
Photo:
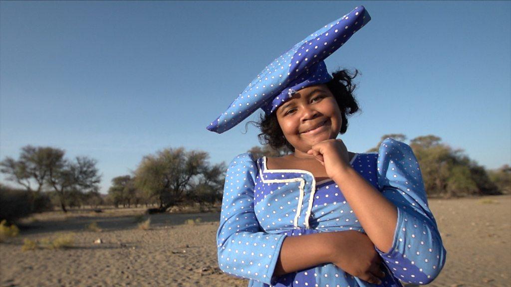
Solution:
{"label": "blue polka-dot dress bodice with white zigzag trim, without sleeves", "polygon": [[[350,164],[375,188],[377,153],[356,154]],[[257,160],[254,210],[269,233],[295,228],[318,231],[362,231],[339,186],[330,179],[316,182],[305,170],[268,169],[266,157]]]}

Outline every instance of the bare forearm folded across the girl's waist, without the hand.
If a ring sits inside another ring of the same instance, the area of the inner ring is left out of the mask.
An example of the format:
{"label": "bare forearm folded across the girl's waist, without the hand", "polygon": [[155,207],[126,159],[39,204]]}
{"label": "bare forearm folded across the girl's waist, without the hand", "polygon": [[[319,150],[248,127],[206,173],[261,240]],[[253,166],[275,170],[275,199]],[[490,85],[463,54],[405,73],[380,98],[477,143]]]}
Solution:
{"label": "bare forearm folded across the girl's waist, without the hand", "polygon": [[332,262],[333,254],[342,256],[344,248],[350,248],[354,232],[322,232],[300,236],[288,236],[284,240],[275,266],[274,276],[315,267]]}

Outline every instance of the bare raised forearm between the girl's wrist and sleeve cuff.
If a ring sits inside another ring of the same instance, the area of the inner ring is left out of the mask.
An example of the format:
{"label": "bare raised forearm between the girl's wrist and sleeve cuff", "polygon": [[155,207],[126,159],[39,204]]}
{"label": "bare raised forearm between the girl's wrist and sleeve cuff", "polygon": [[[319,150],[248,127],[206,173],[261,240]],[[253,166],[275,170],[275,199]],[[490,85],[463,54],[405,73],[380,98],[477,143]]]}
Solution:
{"label": "bare raised forearm between the girl's wrist and sleeve cuff", "polygon": [[398,220],[397,207],[352,168],[339,172],[333,179],[370,240],[380,250],[388,251]]}

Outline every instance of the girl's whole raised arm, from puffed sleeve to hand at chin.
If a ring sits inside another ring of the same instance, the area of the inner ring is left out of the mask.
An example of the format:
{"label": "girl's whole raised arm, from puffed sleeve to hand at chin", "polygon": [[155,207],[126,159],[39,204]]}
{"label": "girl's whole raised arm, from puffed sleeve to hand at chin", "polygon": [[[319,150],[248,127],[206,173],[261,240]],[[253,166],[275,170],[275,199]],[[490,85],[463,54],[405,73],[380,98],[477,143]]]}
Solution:
{"label": "girl's whole raised arm, from puffed sleeve to hand at chin", "polygon": [[377,161],[381,191],[346,164],[342,141],[320,142],[309,154],[324,163],[394,276],[415,284],[428,284],[438,276],[446,250],[408,145],[390,138],[382,142]]}

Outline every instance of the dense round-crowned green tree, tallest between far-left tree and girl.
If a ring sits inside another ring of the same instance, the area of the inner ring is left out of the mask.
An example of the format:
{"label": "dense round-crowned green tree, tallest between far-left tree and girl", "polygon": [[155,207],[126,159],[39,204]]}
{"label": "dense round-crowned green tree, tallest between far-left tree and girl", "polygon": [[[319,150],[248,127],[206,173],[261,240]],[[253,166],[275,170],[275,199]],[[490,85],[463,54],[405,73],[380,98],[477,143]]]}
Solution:
{"label": "dense round-crowned green tree, tallest between far-left tree and girl", "polygon": [[148,155],[135,171],[135,186],[156,198],[160,211],[183,200],[194,180],[208,166],[208,155],[203,151],[185,151],[168,148]]}

